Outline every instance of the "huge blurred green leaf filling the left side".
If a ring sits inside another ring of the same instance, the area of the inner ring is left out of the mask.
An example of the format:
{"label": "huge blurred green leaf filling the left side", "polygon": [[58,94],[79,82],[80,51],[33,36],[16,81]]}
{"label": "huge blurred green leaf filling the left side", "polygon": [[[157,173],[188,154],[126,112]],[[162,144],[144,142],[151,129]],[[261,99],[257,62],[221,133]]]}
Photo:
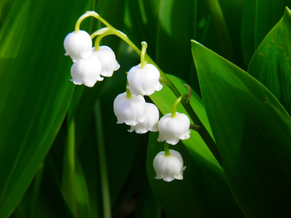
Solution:
{"label": "huge blurred green leaf filling the left side", "polygon": [[8,217],[45,158],[74,85],[63,39],[92,1],[15,1],[0,33],[0,217]]}

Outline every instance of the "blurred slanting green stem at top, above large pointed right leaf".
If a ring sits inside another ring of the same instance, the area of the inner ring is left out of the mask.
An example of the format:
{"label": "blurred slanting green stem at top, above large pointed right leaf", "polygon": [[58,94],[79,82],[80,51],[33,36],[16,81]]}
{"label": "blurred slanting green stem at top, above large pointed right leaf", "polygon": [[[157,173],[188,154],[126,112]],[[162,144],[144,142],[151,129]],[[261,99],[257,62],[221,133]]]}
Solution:
{"label": "blurred slanting green stem at top, above large pointed right leaf", "polygon": [[233,47],[219,1],[206,0],[206,3],[218,35],[223,57],[235,63]]}

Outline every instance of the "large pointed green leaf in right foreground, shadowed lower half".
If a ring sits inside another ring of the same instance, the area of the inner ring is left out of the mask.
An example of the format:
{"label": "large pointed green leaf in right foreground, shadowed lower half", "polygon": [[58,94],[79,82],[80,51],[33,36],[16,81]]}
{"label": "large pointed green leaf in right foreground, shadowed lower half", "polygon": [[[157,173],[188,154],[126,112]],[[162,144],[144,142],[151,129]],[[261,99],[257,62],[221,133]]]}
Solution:
{"label": "large pointed green leaf in right foreground, shadowed lower half", "polygon": [[228,185],[246,217],[289,214],[291,118],[261,83],[192,41],[202,98]]}

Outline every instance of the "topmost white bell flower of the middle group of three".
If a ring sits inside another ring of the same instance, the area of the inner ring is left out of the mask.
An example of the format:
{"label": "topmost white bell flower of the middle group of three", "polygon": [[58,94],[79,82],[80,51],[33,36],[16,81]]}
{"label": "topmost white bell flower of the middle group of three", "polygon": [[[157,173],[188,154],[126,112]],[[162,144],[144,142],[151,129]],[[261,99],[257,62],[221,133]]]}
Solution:
{"label": "topmost white bell flower of the middle group of three", "polygon": [[157,67],[145,64],[145,67],[141,68],[141,64],[139,64],[132,67],[127,73],[127,88],[132,95],[151,95],[163,87],[159,78],[160,72]]}

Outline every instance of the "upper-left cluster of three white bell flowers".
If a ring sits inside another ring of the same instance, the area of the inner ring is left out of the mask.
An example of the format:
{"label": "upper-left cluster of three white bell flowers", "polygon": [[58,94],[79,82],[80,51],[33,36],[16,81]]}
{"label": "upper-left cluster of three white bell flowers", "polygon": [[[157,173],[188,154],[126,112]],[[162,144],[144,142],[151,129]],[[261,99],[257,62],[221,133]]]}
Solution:
{"label": "upper-left cluster of three white bell flowers", "polygon": [[107,46],[92,48],[91,36],[83,30],[69,33],[64,40],[65,55],[74,62],[71,67],[71,81],[76,85],[93,87],[102,76],[112,76],[120,65],[115,54]]}

